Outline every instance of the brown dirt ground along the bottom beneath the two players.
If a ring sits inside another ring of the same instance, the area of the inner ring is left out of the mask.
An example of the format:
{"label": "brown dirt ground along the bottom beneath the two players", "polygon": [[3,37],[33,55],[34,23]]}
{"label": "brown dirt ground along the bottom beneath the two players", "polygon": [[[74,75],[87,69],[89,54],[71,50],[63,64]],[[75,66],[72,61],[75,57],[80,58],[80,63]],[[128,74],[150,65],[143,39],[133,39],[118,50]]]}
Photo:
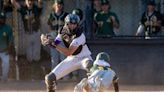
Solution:
{"label": "brown dirt ground along the bottom beneath the two players", "polygon": [[[75,81],[59,81],[57,92],[73,92]],[[0,92],[46,92],[44,81],[0,82]],[[114,92],[111,87],[105,92]],[[120,92],[164,92],[164,85],[120,85]]]}

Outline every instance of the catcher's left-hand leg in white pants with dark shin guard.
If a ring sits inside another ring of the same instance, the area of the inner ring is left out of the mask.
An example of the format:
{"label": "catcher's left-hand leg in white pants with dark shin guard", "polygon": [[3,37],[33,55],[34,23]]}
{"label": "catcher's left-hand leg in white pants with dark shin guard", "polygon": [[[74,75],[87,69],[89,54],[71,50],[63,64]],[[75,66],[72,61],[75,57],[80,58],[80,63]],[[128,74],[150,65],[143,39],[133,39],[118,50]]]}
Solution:
{"label": "catcher's left-hand leg in white pants with dark shin guard", "polygon": [[59,63],[52,72],[45,76],[45,83],[47,92],[55,92],[56,81],[70,72],[79,69],[79,59],[74,57],[67,57],[64,61]]}

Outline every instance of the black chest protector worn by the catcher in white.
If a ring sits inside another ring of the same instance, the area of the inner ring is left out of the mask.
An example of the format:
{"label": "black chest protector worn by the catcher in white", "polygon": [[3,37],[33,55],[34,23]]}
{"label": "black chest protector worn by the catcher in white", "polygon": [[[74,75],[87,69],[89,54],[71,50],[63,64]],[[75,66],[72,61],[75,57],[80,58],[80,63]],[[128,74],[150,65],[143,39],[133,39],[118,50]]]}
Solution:
{"label": "black chest protector worn by the catcher in white", "polygon": [[[77,28],[73,30],[72,32],[67,27],[62,27],[59,30],[59,33],[62,35],[62,40],[64,42],[64,45],[69,48],[71,42],[75,39],[81,36],[83,33],[83,30],[81,28]],[[83,48],[83,45],[80,45],[76,51],[72,55],[77,55],[81,52]]]}

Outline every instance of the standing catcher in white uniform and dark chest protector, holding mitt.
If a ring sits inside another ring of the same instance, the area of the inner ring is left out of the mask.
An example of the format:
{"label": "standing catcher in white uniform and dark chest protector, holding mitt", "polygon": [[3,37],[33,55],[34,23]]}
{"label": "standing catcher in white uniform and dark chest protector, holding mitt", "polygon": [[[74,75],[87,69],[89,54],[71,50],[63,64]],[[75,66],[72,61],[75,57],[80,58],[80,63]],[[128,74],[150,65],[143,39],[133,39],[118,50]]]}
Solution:
{"label": "standing catcher in white uniform and dark chest protector, holding mitt", "polygon": [[[43,45],[52,46],[67,56],[45,76],[47,92],[55,92],[57,80],[65,75],[78,69],[87,71],[92,67],[91,52],[86,44],[83,30],[79,27],[79,22],[78,15],[68,14],[65,18],[65,25],[59,29],[55,39],[48,35],[41,35]],[[61,42],[64,42],[65,47],[60,45]]]}

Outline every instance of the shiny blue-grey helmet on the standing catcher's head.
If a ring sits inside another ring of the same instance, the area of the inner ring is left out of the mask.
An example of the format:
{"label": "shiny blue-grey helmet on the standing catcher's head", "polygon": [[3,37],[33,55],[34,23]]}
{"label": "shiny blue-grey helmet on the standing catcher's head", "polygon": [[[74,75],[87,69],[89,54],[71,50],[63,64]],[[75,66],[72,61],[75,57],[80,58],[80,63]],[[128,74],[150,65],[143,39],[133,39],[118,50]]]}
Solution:
{"label": "shiny blue-grey helmet on the standing catcher's head", "polygon": [[65,23],[73,23],[73,24],[79,24],[80,22],[80,18],[78,15],[76,14],[68,14],[66,17],[65,17]]}

